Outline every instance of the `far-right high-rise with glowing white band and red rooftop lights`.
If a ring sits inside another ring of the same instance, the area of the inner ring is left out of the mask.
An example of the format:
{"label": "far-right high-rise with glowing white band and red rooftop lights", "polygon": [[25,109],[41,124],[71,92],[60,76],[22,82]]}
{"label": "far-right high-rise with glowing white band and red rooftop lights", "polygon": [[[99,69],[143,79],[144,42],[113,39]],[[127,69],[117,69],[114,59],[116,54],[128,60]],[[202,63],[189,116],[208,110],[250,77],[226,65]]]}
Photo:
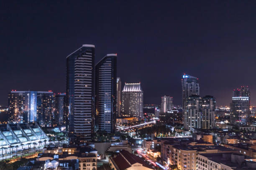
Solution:
{"label": "far-right high-rise with glowing white band and red rooftop lights", "polygon": [[250,90],[248,86],[233,90],[232,102],[230,103],[230,122],[233,124],[246,125],[250,115]]}

